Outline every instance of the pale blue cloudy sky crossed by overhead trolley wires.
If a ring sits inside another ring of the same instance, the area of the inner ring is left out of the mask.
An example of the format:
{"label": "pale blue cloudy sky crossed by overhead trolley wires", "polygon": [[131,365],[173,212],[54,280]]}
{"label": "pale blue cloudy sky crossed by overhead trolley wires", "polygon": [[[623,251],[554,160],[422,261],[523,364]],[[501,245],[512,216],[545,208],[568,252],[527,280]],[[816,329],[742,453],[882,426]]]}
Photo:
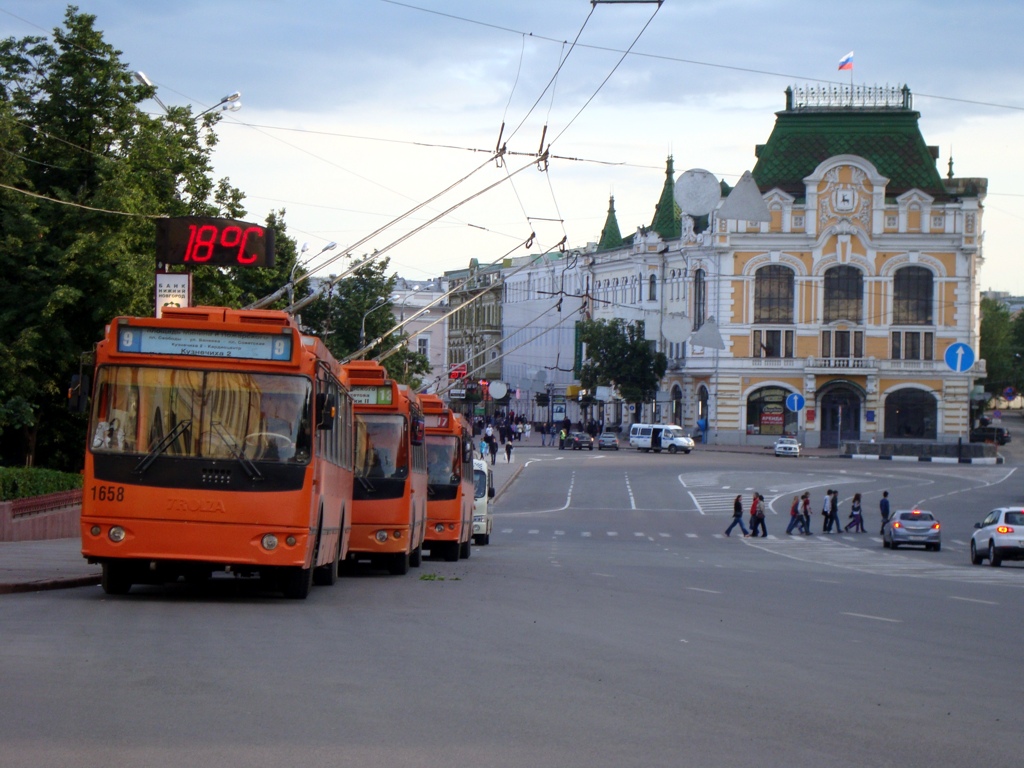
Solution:
{"label": "pale blue cloudy sky crossed by overhead trolley wires", "polygon": [[[0,0],[0,37],[49,34],[67,6]],[[989,179],[981,288],[1024,294],[1019,0],[78,7],[165,103],[198,112],[242,91],[243,109],[217,127],[215,162],[246,194],[250,220],[285,209],[310,253],[332,241],[338,252],[393,246],[392,268],[411,279],[537,253],[563,237],[585,246],[600,237],[612,195],[624,233],[649,224],[669,155],[677,175],[705,168],[735,183],[786,86],[848,84],[838,63],[853,50],[855,83],[910,87],[942,175],[951,153],[957,176]],[[499,135],[510,153],[501,163],[488,161]],[[542,139],[557,156],[546,172],[528,157]]]}

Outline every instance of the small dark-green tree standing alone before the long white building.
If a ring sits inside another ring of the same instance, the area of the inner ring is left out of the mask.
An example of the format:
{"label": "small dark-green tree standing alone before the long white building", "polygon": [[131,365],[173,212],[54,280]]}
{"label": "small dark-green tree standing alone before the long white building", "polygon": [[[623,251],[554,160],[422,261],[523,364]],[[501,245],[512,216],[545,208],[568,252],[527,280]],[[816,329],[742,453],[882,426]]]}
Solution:
{"label": "small dark-green tree standing alone before the long white building", "polygon": [[584,321],[580,338],[587,345],[580,371],[585,388],[614,386],[627,402],[637,404],[653,399],[669,361],[644,339],[642,321]]}

